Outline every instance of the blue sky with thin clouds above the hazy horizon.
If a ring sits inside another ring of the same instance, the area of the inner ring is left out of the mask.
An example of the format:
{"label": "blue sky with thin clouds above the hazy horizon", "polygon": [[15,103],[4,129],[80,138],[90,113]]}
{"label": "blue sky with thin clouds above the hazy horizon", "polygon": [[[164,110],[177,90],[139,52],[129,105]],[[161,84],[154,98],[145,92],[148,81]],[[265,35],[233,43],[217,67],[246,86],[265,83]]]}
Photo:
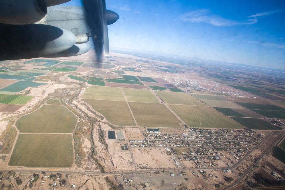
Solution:
{"label": "blue sky with thin clouds above the hazy horizon", "polygon": [[[72,0],[69,5],[80,5]],[[109,45],[285,70],[285,1],[106,0]]]}

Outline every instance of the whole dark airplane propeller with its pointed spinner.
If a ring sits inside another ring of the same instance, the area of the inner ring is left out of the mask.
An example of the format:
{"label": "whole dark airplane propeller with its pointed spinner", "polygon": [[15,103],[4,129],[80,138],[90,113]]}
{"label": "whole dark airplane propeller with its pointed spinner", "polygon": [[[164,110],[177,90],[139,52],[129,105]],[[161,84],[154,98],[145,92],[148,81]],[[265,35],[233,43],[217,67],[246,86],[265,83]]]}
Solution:
{"label": "whole dark airplane propeller with its pointed spinner", "polygon": [[101,54],[104,45],[106,60],[109,57],[109,37],[107,25],[115,23],[119,15],[113,11],[106,10],[105,0],[82,0],[84,5],[87,24],[91,29],[93,44],[97,61],[101,62]]}

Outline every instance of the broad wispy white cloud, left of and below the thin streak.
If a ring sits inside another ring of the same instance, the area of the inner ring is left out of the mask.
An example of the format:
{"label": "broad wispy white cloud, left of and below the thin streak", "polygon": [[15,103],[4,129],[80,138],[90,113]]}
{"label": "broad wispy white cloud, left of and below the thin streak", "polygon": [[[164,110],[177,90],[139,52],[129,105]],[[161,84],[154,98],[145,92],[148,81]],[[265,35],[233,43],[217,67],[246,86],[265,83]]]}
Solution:
{"label": "broad wispy white cloud, left of and below the thin streak", "polygon": [[257,23],[257,19],[248,19],[246,21],[234,21],[231,19],[225,19],[219,15],[213,15],[209,9],[198,9],[195,11],[190,11],[180,15],[179,18],[182,21],[188,21],[191,23],[208,23],[213,26],[233,26],[238,24],[254,24]]}

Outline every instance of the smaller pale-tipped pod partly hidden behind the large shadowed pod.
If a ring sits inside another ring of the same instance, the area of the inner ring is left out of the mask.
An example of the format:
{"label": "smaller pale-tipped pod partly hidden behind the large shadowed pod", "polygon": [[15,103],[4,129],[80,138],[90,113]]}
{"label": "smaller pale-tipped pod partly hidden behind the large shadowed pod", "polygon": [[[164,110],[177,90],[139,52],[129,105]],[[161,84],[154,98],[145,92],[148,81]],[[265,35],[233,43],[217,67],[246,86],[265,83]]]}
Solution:
{"label": "smaller pale-tipped pod partly hidden behind the large shadowed pod", "polygon": [[56,57],[70,57],[70,56],[78,56],[81,54],[85,54],[91,49],[90,44],[84,43],[84,44],[74,44],[71,48],[68,50],[65,50],[63,52],[60,52],[58,54],[45,56],[46,58],[56,58]]}

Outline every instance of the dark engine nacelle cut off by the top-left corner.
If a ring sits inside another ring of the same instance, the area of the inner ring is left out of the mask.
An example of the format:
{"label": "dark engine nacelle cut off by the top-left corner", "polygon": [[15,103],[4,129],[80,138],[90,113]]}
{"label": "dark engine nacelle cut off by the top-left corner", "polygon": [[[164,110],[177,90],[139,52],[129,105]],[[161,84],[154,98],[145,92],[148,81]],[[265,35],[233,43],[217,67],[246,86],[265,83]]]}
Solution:
{"label": "dark engine nacelle cut off by the top-left corner", "polygon": [[1,0],[0,23],[32,24],[46,15],[46,7],[68,1],[70,0]]}

